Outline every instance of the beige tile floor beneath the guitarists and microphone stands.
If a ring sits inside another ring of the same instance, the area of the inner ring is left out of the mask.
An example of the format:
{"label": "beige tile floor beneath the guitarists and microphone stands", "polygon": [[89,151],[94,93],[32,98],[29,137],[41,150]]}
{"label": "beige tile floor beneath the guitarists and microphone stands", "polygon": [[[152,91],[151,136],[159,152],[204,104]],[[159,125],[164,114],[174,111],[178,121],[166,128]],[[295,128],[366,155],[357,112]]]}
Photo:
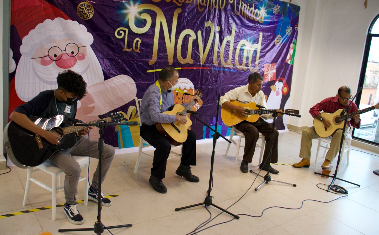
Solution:
{"label": "beige tile floor beneath the guitarists and microphone stands", "polygon": [[[296,132],[283,132],[279,135],[279,163],[293,164],[298,162],[301,135]],[[330,178],[322,178],[314,172],[320,172],[323,162],[319,158],[315,164],[316,140],[312,147],[312,165],[309,168],[296,169],[291,166],[274,166],[280,170],[279,175],[271,175],[273,179],[295,183],[297,187],[271,181],[254,191],[262,180],[252,173],[240,172],[239,164],[243,151],[240,151],[238,165],[235,166],[236,148],[231,147],[227,157],[224,156],[227,142],[218,140],[213,168],[213,203],[222,208],[229,208],[247,191],[244,197],[228,210],[235,214],[258,216],[265,208],[280,206],[298,208],[302,200],[313,199],[330,201],[339,195],[326,192],[316,187],[318,183],[329,185]],[[163,180],[168,188],[167,194],[153,191],[148,183],[151,159],[143,158],[138,173],[133,173],[137,153],[116,155],[107,178],[103,183],[105,195],[119,194],[112,199],[111,207],[103,207],[101,218],[105,226],[133,224],[132,227],[112,229],[113,234],[148,235],[148,234],[191,234],[202,222],[210,218],[204,206],[181,211],[184,207],[204,202],[207,195],[210,172],[210,156],[213,144],[197,145],[197,166],[192,172],[200,177],[199,183],[190,183],[175,175],[179,158],[168,161],[166,178]],[[379,218],[379,176],[373,174],[379,169],[378,153],[368,153],[352,147],[350,164],[346,166],[346,157],[342,160],[338,177],[360,184],[360,187],[336,180],[337,185],[349,191],[348,197],[330,203],[306,201],[299,210],[271,208],[260,218],[241,215],[239,220],[211,227],[197,234],[230,235],[230,234],[379,234],[377,224]],[[249,169],[258,170],[258,153],[255,154]],[[335,166],[337,159],[333,162]],[[91,161],[91,172],[97,162]],[[335,169],[335,168],[334,168]],[[334,172],[334,170],[332,171]],[[2,173],[2,172],[0,172]],[[263,174],[266,172],[263,172]],[[0,215],[19,212],[32,208],[51,205],[51,193],[32,184],[29,203],[22,206],[25,192],[26,170],[12,167],[12,171],[0,175]],[[36,177],[47,183],[51,177],[45,173],[36,173]],[[78,186],[78,199],[83,199],[83,182]],[[57,202],[64,202],[64,192],[58,192]],[[85,218],[82,225],[71,224],[62,208],[57,208],[56,221],[52,221],[52,211],[43,210],[20,214],[0,219],[1,234],[94,234],[93,232],[58,233],[58,229],[92,228],[96,222],[97,206],[89,202],[88,206],[78,204],[78,210]],[[220,211],[208,207],[215,218]],[[226,222],[232,219],[222,213],[207,224]],[[103,234],[110,234],[105,231]]]}

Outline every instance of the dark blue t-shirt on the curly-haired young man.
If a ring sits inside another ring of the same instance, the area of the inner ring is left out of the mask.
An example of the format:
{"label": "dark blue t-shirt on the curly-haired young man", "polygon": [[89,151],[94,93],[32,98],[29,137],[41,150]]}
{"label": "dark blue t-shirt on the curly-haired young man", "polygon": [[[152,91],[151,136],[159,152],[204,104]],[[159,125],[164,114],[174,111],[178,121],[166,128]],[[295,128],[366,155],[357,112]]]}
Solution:
{"label": "dark blue t-shirt on the curly-haired young man", "polygon": [[[77,103],[67,105],[64,101],[58,101],[58,99],[54,98],[54,90],[47,90],[42,91],[27,103],[21,104],[14,111],[25,114],[28,117],[32,115],[36,117],[49,118],[57,115],[59,112],[59,114],[65,114],[70,118],[75,118],[76,108]],[[69,112],[67,111],[68,109]]]}

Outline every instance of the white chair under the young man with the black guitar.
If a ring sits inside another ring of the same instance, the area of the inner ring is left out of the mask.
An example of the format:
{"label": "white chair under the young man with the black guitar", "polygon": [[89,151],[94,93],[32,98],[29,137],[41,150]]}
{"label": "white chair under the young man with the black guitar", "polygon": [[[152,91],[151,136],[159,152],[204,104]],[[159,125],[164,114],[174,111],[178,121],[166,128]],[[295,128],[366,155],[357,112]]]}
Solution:
{"label": "white chair under the young man with the black guitar", "polygon": [[[88,180],[87,180],[87,175],[88,175],[88,166],[89,166],[89,160],[88,156],[72,156],[75,161],[77,161],[80,165],[81,168],[86,167],[84,173],[86,174],[85,177],[80,177],[79,182],[85,180],[84,183],[84,205],[87,205],[88,202]],[[34,169],[33,169],[34,168]],[[48,186],[41,181],[37,180],[36,178],[33,178],[33,173],[38,171],[38,170],[43,170],[46,173],[49,173],[52,175],[52,186]],[[55,220],[55,214],[56,214],[56,191],[64,188],[64,183],[61,184],[61,175],[64,174],[64,171],[59,169],[58,167],[53,166],[49,162],[44,162],[39,166],[36,167],[28,167],[27,169],[27,181],[26,181],[26,188],[25,188],[25,195],[24,195],[24,200],[22,205],[25,206],[27,205],[28,197],[29,197],[29,191],[30,191],[30,184],[31,182],[36,183],[38,186],[41,186],[44,189],[49,190],[50,192],[53,193],[52,195],[52,200],[53,200],[53,205],[52,205],[52,213],[53,213],[53,220]],[[56,180],[58,177],[58,186],[56,184]]]}

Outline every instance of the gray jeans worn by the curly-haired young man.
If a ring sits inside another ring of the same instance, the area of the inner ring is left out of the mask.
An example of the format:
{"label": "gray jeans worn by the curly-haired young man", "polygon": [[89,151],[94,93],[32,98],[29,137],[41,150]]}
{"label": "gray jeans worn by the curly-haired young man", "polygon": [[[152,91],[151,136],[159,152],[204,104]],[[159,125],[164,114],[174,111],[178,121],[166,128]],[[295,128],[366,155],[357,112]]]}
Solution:
{"label": "gray jeans worn by the curly-haired young man", "polygon": [[[99,159],[99,151],[97,149],[98,142],[89,140],[90,157]],[[64,196],[66,197],[67,204],[74,204],[76,202],[76,194],[78,193],[78,181],[80,177],[80,166],[71,155],[74,156],[88,156],[88,136],[83,136],[78,140],[75,146],[69,150],[62,150],[54,153],[48,161],[53,166],[56,166],[66,173],[64,178]],[[101,182],[104,181],[106,173],[111,166],[114,157],[114,148],[111,145],[104,144],[104,152],[102,156],[101,165]],[[99,179],[99,165],[92,177],[92,187],[97,189],[97,181]]]}

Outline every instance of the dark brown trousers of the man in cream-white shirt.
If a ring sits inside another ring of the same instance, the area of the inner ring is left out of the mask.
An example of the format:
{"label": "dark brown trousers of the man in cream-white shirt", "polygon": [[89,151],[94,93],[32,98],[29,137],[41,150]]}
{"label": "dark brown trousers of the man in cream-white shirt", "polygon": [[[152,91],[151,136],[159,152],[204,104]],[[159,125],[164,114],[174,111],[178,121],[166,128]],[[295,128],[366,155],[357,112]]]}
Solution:
{"label": "dark brown trousers of the man in cream-white shirt", "polygon": [[237,125],[235,125],[235,128],[239,131],[243,132],[245,136],[245,152],[243,155],[243,159],[246,162],[251,163],[255,151],[255,144],[258,141],[259,138],[259,132],[265,136],[266,145],[265,145],[265,152],[263,153],[263,159],[262,162],[269,163],[269,153],[271,150],[271,141],[274,139],[273,144],[273,153],[271,156],[271,163],[278,162],[278,137],[279,132],[275,129],[274,130],[274,138],[271,138],[273,128],[272,126],[263,120],[263,118],[258,118],[258,121],[251,123],[248,121],[241,121]]}

